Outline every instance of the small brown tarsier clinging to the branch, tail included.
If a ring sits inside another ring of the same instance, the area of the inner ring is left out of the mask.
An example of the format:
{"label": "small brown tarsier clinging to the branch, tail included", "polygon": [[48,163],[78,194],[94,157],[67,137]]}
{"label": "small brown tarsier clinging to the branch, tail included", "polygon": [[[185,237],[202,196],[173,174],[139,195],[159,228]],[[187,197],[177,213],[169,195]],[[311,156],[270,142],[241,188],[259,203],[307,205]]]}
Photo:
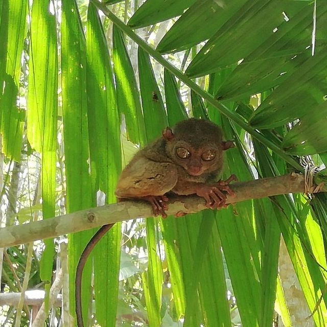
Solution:
{"label": "small brown tarsier clinging to the branch, tail included", "polygon": [[[233,195],[228,184],[236,177],[231,175],[226,181],[218,178],[223,168],[223,151],[233,146],[231,141],[224,141],[220,127],[212,122],[181,121],[172,129],[167,127],[161,137],[136,153],[123,170],[115,195],[119,201],[148,201],[154,216],[163,218],[167,217],[170,194],[196,194],[205,199],[209,208],[224,207],[226,195]],[[83,266],[90,251],[112,226],[102,226],[81,255],[76,272],[78,327],[83,326],[80,297]]]}

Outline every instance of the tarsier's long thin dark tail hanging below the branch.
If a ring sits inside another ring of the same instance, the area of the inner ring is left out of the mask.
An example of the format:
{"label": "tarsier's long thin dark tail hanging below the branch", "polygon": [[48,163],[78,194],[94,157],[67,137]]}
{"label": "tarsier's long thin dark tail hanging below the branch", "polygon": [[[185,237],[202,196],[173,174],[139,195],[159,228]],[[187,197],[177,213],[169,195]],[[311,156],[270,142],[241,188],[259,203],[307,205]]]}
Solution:
{"label": "tarsier's long thin dark tail hanging below the branch", "polygon": [[85,263],[89,254],[92,252],[97,243],[105,235],[105,233],[113,226],[114,224],[103,225],[95,233],[94,236],[87,243],[84,251],[81,254],[80,260],[76,268],[76,278],[75,278],[75,312],[77,318],[77,326],[84,327],[83,316],[82,316],[82,275]]}

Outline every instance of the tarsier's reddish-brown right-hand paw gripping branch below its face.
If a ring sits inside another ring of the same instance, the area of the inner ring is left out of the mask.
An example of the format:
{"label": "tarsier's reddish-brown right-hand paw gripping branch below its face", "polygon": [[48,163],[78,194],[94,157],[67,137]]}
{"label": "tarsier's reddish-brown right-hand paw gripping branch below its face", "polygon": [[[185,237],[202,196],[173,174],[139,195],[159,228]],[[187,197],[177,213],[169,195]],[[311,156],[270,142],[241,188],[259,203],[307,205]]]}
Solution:
{"label": "tarsier's reddish-brown right-hand paw gripping branch below its face", "polygon": [[227,180],[220,180],[215,184],[201,185],[196,194],[205,199],[208,208],[219,209],[226,207],[226,195],[233,196],[235,194],[229,187],[229,183],[233,180],[237,180],[235,175],[231,175]]}

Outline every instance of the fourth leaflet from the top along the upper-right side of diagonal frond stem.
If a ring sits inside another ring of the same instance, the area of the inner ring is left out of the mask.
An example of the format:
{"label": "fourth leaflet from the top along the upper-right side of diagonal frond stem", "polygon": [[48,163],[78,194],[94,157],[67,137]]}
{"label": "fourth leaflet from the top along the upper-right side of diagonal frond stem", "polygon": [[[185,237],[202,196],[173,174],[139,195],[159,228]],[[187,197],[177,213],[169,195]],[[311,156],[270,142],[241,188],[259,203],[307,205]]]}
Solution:
{"label": "fourth leaflet from the top along the upper-right side of diagonal frond stem", "polygon": [[[318,3],[317,30],[324,29],[327,8]],[[275,33],[245,57],[216,93],[220,100],[243,99],[246,96],[281,84],[292,72],[311,57],[312,12],[307,7],[279,27]],[[324,48],[316,40],[316,51]]]}

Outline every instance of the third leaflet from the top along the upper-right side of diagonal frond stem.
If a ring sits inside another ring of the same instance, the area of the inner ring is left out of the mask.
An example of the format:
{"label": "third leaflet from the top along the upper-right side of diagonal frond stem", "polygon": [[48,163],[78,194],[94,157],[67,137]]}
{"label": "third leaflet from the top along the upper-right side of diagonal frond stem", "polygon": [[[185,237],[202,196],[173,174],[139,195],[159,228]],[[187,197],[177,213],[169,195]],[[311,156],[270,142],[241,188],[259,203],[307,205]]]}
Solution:
{"label": "third leaflet from the top along the upper-right side of diagonal frond stem", "polygon": [[[304,6],[308,6],[306,2],[283,1],[277,5],[275,0],[247,1],[208,40],[186,69],[186,74],[203,76],[247,57],[267,41],[275,28],[288,24],[283,11],[292,19]],[[309,6],[307,10],[312,12]],[[260,26],[260,29],[253,29],[254,26]],[[221,55],[224,53],[228,56]]]}

